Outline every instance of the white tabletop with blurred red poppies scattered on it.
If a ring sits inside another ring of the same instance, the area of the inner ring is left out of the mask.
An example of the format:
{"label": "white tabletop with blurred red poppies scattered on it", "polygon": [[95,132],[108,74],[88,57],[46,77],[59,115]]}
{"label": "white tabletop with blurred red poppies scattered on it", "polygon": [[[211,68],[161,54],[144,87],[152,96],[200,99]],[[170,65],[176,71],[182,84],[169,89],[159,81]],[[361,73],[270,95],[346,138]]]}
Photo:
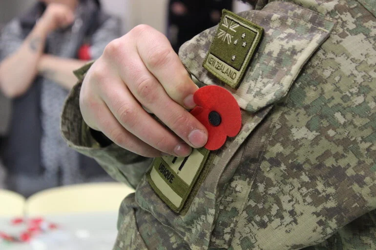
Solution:
{"label": "white tabletop with blurred red poppies scattered on it", "polygon": [[[0,242],[0,250],[112,250],[117,215],[117,212],[96,212],[43,216],[59,228],[40,234],[28,243]],[[12,234],[22,231],[12,226],[10,220],[0,217],[0,231]]]}

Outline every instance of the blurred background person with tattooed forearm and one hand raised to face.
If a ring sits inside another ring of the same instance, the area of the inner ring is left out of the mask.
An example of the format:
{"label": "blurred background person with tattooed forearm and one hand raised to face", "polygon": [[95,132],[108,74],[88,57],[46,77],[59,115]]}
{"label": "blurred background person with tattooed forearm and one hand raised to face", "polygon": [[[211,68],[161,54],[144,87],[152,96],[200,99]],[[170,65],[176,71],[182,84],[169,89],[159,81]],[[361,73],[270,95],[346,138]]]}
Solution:
{"label": "blurred background person with tattooed forearm and one hand raised to face", "polygon": [[72,73],[119,37],[117,19],[98,0],[40,0],[0,38],[0,89],[12,98],[1,158],[7,188],[29,196],[45,188],[109,180],[97,163],[65,146],[61,108]]}

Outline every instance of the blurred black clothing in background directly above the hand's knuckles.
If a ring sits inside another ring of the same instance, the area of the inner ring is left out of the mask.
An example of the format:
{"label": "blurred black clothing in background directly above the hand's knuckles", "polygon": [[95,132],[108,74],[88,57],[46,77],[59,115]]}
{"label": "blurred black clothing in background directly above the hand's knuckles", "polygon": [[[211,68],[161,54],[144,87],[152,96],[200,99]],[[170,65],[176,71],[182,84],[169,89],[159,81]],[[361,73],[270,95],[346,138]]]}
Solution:
{"label": "blurred black clothing in background directly above the hand's knuckles", "polygon": [[[184,13],[174,12],[174,4],[184,5]],[[170,0],[168,38],[177,53],[180,46],[200,32],[217,25],[223,9],[232,9],[232,0]]]}

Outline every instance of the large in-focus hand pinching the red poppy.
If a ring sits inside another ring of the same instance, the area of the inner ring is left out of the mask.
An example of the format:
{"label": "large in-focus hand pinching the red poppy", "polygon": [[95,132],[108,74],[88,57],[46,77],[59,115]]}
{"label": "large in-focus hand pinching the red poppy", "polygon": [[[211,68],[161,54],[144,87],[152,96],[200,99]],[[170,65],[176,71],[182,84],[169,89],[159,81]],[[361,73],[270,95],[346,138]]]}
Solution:
{"label": "large in-focus hand pinching the red poppy", "polygon": [[187,156],[190,146],[200,148],[208,138],[206,128],[186,110],[195,106],[197,89],[167,38],[139,25],[111,41],[91,66],[80,108],[89,127],[131,152]]}

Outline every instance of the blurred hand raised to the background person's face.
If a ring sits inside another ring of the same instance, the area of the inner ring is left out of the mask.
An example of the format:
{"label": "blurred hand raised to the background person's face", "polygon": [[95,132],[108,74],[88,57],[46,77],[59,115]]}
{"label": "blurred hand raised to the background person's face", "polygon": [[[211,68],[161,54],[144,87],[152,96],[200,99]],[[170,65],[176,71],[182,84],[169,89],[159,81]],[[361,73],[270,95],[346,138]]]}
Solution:
{"label": "blurred hand raised to the background person's face", "polygon": [[74,14],[68,6],[59,3],[50,3],[44,11],[42,18],[39,20],[39,23],[48,34],[56,29],[69,26],[73,21]]}

